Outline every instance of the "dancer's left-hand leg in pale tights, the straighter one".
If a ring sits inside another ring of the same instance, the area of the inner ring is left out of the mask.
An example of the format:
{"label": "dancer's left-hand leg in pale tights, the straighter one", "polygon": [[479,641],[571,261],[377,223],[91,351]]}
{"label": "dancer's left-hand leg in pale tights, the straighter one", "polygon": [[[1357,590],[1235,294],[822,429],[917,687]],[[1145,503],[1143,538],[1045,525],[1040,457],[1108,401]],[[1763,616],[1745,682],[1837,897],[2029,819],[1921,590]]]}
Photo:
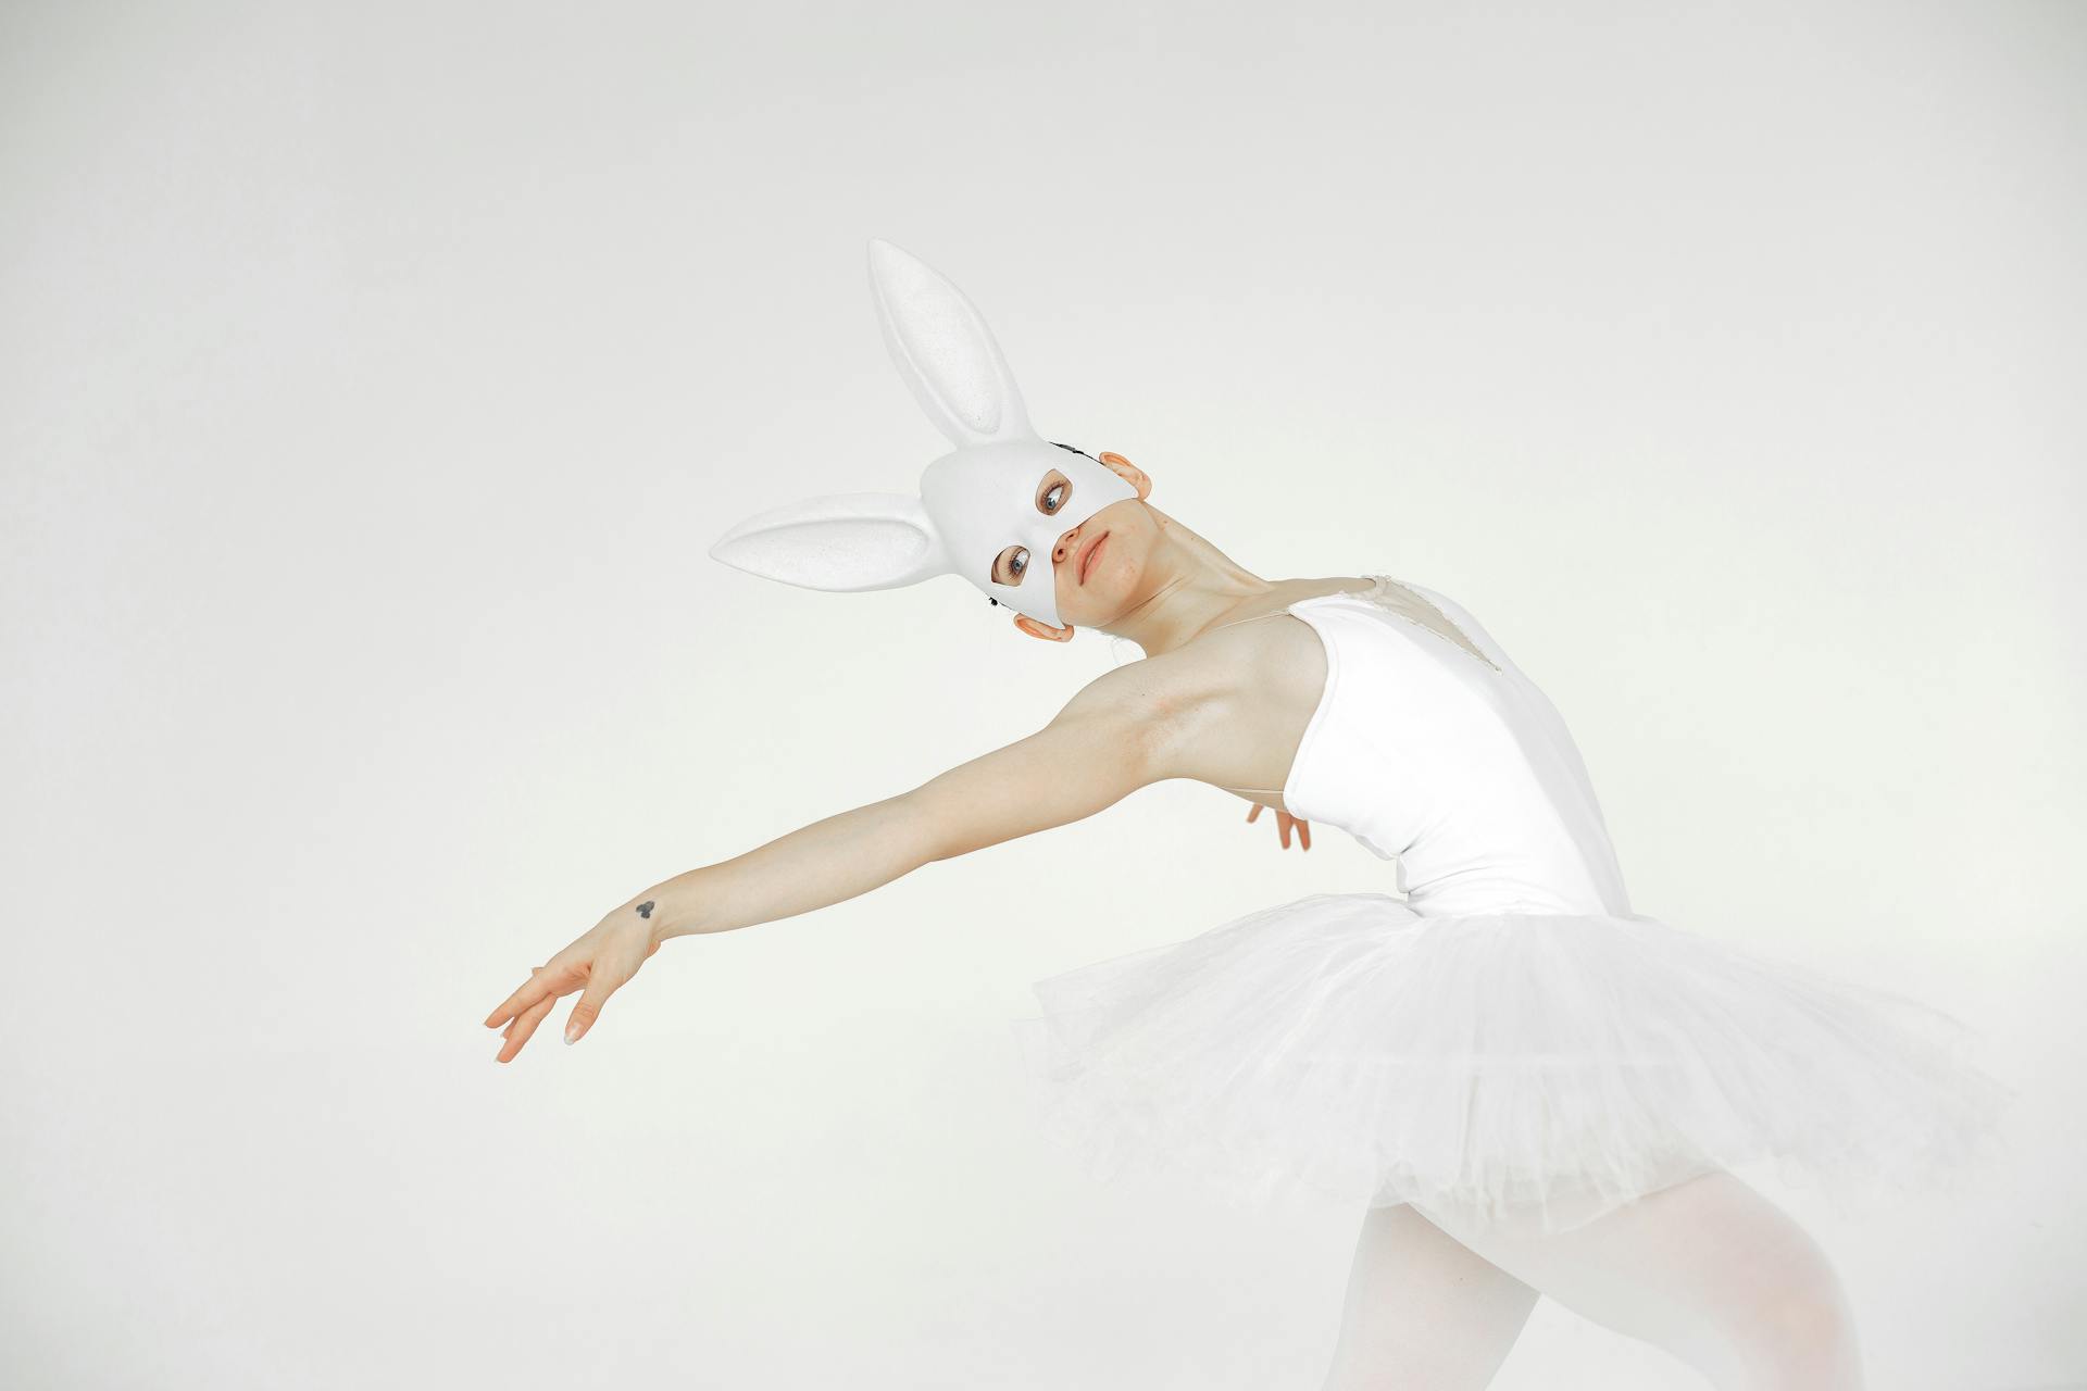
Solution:
{"label": "dancer's left-hand leg in pale tights, the straighter one", "polygon": [[1536,1291],[1413,1207],[1371,1207],[1321,1391],[1480,1391]]}

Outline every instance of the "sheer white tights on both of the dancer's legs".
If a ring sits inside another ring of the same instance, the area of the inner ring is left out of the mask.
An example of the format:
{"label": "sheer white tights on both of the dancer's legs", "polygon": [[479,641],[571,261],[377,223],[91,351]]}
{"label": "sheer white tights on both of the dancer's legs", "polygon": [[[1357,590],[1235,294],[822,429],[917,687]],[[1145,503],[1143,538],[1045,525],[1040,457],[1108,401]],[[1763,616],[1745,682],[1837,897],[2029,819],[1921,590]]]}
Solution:
{"label": "sheer white tights on both of the dancer's legs", "polygon": [[1711,1172],[1557,1235],[1371,1207],[1323,1391],[1478,1391],[1538,1295],[1674,1353],[1718,1391],[1864,1387],[1849,1303],[1818,1243]]}

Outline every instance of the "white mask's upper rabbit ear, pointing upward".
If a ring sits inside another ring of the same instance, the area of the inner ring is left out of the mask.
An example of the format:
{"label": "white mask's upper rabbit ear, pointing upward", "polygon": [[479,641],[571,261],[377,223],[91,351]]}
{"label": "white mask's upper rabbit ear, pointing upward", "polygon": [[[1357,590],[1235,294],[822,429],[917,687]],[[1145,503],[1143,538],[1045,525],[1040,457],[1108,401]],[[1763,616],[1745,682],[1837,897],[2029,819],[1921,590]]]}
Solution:
{"label": "white mask's upper rabbit ear, pointing upward", "polygon": [[891,242],[870,238],[870,294],[891,361],[952,444],[1035,438],[1000,344],[962,290]]}

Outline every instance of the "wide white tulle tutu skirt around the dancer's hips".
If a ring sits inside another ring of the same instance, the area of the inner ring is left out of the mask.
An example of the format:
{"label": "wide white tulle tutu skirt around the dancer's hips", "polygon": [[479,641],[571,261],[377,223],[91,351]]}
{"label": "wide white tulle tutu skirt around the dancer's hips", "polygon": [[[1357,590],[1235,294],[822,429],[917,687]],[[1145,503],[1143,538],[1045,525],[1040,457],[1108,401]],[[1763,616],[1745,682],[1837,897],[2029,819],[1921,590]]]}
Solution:
{"label": "wide white tulle tutu skirt around the dancer's hips", "polygon": [[1565,1230],[1776,1160],[1847,1207],[1993,1157],[2016,1097],[1949,1014],[1642,916],[1311,895],[1035,993],[1046,1134],[1252,1205]]}

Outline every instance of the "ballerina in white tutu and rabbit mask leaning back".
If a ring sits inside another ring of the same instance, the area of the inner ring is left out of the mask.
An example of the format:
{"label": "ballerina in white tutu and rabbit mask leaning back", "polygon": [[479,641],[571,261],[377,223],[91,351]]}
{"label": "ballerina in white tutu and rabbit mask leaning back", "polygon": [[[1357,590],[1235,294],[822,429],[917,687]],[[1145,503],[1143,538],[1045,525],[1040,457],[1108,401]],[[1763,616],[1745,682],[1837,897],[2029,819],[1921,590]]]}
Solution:
{"label": "ballerina in white tutu and rabbit mask leaning back", "polygon": [[[1536,1297],[1720,1391],[1862,1387],[1818,1245],[1728,1168],[1837,1193],[1958,1172],[2012,1095],[1947,1016],[1630,911],[1565,724],[1478,619],[1388,576],[1263,580],[1121,455],[1039,440],[977,309],[872,242],[887,346],[956,450],[918,496],[835,494],[712,555],[829,590],[960,574],[1014,626],[1146,659],[910,792],[655,884],[486,1020],[568,1043],[670,936],[839,903],[1167,778],[1332,822],[1392,895],[1311,895],[1037,984],[1016,1028],[1052,1128],[1258,1201],[1365,1205],[1325,1387],[1484,1387]],[[1273,621],[1263,621],[1273,619]]]}

